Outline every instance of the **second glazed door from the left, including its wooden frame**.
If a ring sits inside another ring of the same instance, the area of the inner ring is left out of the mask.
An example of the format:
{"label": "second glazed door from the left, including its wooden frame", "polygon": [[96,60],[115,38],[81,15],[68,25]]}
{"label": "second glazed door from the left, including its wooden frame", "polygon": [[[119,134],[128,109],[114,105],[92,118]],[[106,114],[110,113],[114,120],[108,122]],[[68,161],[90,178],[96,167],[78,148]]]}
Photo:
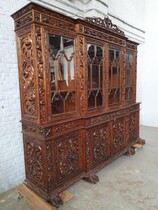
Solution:
{"label": "second glazed door from the left, including its wooden frame", "polygon": [[86,89],[87,111],[98,112],[105,107],[104,44],[87,40]]}

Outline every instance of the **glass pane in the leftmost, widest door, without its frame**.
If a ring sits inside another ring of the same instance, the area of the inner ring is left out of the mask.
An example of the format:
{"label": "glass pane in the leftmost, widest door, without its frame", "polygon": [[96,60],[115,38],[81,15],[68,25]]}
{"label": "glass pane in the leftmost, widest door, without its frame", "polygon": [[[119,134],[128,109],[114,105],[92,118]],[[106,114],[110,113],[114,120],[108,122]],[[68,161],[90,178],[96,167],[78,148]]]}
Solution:
{"label": "glass pane in the leftmost, widest door, without its frame", "polygon": [[74,40],[49,35],[52,114],[75,111]]}

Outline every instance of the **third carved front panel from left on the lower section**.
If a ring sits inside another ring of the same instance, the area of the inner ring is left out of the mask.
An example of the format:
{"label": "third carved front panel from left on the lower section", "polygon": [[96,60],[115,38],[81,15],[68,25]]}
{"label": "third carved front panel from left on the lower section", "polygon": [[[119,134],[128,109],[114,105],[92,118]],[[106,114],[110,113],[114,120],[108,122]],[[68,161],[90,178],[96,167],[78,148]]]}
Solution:
{"label": "third carved front panel from left on the lower section", "polygon": [[112,152],[118,152],[125,147],[124,118],[118,118],[112,122]]}

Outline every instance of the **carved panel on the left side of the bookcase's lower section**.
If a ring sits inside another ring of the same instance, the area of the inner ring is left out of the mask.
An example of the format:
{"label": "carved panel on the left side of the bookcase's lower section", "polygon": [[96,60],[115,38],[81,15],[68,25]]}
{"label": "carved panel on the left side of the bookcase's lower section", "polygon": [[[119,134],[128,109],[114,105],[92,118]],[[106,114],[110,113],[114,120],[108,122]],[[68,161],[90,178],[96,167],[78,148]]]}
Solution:
{"label": "carved panel on the left side of the bookcase's lower section", "polygon": [[44,186],[43,147],[32,138],[24,137],[24,151],[27,179]]}

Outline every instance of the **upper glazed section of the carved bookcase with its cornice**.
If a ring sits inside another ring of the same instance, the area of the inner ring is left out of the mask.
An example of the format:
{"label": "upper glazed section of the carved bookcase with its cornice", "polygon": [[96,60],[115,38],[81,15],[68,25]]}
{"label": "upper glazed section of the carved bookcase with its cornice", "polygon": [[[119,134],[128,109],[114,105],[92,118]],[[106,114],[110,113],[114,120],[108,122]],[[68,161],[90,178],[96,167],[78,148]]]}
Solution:
{"label": "upper glazed section of the carved bookcase with its cornice", "polygon": [[137,43],[109,18],[73,19],[35,3],[12,17],[22,120],[47,124],[135,102]]}

